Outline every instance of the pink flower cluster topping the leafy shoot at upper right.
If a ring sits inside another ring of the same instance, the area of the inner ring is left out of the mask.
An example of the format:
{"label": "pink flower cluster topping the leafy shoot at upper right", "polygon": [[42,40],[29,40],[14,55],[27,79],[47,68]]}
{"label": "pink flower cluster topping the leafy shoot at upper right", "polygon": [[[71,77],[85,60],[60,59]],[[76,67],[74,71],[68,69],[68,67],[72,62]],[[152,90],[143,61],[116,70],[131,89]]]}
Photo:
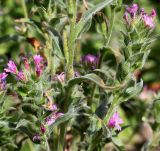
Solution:
{"label": "pink flower cluster topping the leafy shoot at upper right", "polygon": [[140,18],[140,20],[148,28],[155,27],[155,23],[154,23],[155,17],[156,17],[155,9],[153,9],[150,14],[147,14],[144,8],[139,9],[137,4],[133,4],[130,7],[127,6],[126,12],[124,13],[124,19],[127,22],[127,24],[131,24],[136,18]]}

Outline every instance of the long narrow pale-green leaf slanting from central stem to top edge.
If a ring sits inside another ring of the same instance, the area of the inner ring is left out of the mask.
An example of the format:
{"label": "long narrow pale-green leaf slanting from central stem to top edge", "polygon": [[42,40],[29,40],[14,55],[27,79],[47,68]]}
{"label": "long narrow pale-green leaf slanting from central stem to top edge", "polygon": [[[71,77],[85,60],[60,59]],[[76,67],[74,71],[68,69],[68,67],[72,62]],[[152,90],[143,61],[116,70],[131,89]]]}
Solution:
{"label": "long narrow pale-green leaf slanting from central stem to top edge", "polygon": [[86,11],[84,13],[84,15],[82,16],[81,20],[78,22],[78,24],[76,25],[76,33],[75,33],[75,39],[78,38],[78,36],[84,32],[84,28],[87,24],[87,22],[92,18],[92,16],[102,10],[103,8],[105,8],[107,5],[111,4],[114,0],[105,0],[103,2],[98,3],[97,5],[95,5],[93,8],[89,9],[88,11]]}

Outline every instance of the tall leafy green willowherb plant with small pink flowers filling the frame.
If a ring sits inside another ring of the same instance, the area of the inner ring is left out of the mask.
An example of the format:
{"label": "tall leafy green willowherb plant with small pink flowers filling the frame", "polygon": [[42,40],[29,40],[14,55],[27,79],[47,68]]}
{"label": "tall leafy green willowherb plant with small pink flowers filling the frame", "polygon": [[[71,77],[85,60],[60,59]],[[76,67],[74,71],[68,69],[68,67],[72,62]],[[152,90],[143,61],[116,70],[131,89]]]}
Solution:
{"label": "tall leafy green willowherb plant with small pink flowers filling the frame", "polygon": [[[85,0],[42,0],[27,13],[24,4],[25,18],[16,20],[18,29],[25,28],[19,36],[35,51],[9,60],[0,74],[4,150],[20,150],[28,138],[39,144],[37,150],[100,151],[109,142],[124,149],[116,141],[127,127],[119,106],[140,93],[143,81],[135,72],[143,68],[155,40],[156,12],[148,14],[139,7],[117,0],[94,5]],[[118,48],[111,44],[116,15],[125,27],[117,31]],[[82,55],[79,45],[92,22],[103,45],[96,54]],[[113,64],[106,62],[108,54]],[[11,96],[16,101],[7,112],[5,102]]]}

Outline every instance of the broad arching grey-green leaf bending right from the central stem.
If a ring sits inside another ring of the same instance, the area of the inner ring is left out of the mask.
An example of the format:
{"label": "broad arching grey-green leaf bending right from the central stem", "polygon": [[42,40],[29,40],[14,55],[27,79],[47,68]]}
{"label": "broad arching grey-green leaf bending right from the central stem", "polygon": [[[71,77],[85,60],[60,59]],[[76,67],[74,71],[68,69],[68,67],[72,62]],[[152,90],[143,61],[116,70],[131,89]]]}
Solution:
{"label": "broad arching grey-green leaf bending right from the central stem", "polygon": [[71,86],[78,84],[80,82],[83,82],[85,80],[91,81],[91,82],[97,84],[101,88],[105,88],[105,83],[103,82],[103,80],[94,73],[71,79],[68,81],[68,86],[71,87]]}

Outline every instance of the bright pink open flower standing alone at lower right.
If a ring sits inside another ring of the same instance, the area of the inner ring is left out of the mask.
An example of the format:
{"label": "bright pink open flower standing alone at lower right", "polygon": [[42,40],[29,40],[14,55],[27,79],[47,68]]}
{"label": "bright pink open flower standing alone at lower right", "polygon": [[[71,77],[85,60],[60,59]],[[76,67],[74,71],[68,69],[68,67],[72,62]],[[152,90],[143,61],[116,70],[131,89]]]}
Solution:
{"label": "bright pink open flower standing alone at lower right", "polygon": [[109,119],[108,126],[111,128],[116,128],[117,130],[121,130],[120,125],[123,124],[123,120],[119,117],[118,112],[116,111],[112,117]]}

